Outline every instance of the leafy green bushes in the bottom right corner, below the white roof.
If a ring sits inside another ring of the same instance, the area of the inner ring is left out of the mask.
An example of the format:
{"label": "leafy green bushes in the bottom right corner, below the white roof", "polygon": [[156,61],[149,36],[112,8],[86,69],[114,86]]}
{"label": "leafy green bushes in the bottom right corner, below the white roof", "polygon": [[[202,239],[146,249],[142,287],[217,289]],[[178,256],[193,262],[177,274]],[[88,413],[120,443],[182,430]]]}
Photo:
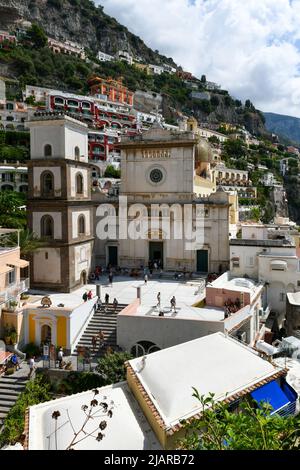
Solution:
{"label": "leafy green bushes in the bottom right corner, below the white roof", "polygon": [[269,404],[255,408],[244,400],[238,413],[216,402],[214,395],[193,396],[200,401],[201,418],[186,425],[186,437],[179,443],[188,450],[299,450],[299,415],[271,416]]}

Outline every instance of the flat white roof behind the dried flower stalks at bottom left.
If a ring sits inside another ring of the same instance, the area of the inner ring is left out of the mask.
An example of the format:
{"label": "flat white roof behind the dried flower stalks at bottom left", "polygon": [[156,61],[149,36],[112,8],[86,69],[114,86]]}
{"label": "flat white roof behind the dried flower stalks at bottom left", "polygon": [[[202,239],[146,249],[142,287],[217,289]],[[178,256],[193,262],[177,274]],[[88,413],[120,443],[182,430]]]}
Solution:
{"label": "flat white roof behind the dried flower stalks at bottom left", "polygon": [[[101,441],[88,437],[74,446],[75,450],[160,450],[148,421],[126,382],[99,388],[97,401],[106,402],[112,408],[112,418],[97,412],[97,418],[90,420],[85,430],[95,435],[100,431],[101,421],[107,421],[105,435]],[[84,423],[83,405],[89,405],[94,397],[92,390],[52,400],[29,408],[29,450],[56,450],[54,411],[60,412],[57,421],[58,450],[65,450],[74,437],[72,425],[78,431]],[[99,408],[95,408],[98,410]],[[72,425],[70,423],[70,419]],[[84,437],[81,435],[81,437]],[[79,439],[78,439],[79,440]]]}

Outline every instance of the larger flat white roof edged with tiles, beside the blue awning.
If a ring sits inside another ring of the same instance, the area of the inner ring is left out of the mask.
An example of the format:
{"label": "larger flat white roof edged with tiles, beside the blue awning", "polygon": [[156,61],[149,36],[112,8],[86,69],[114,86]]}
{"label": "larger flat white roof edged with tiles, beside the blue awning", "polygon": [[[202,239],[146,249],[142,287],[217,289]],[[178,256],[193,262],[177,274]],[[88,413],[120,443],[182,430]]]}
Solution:
{"label": "larger flat white roof edged with tiles, beside the blue awning", "polygon": [[141,358],[129,363],[167,427],[201,411],[192,387],[222,400],[282,370],[223,333],[154,352],[144,367]]}

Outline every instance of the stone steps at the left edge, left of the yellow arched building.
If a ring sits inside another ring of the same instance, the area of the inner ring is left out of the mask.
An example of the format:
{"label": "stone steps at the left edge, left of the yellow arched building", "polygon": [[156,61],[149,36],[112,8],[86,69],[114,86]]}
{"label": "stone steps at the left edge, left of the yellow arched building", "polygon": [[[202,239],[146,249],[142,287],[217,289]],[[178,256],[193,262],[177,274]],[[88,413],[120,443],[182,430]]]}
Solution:
{"label": "stone steps at the left edge, left of the yellow arched building", "polygon": [[28,381],[27,376],[19,376],[19,372],[0,377],[0,427]]}

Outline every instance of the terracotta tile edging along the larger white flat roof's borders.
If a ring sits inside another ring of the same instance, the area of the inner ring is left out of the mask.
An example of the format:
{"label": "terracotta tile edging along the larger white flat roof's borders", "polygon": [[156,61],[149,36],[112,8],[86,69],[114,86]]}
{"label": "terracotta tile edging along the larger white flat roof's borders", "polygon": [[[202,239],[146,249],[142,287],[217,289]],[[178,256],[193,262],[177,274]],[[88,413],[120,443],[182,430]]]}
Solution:
{"label": "terracotta tile edging along the larger white flat roof's borders", "polygon": [[[137,377],[135,371],[132,369],[131,365],[129,364],[129,362],[126,362],[125,363],[125,366],[126,366],[126,369],[127,369],[127,372],[131,375],[131,377],[133,378],[136,386],[137,386],[137,389],[139,390],[139,392],[141,393],[141,395],[143,396],[145,402],[147,403],[150,411],[152,412],[152,415],[153,417],[155,418],[156,422],[159,424],[159,426],[164,429],[164,431],[166,432],[166,434],[168,436],[172,436],[175,432],[179,431],[180,429],[182,429],[187,423],[190,423],[192,422],[194,419],[200,419],[201,418],[201,415],[202,413],[199,412],[193,416],[191,416],[190,418],[188,419],[185,419],[184,420],[184,424],[182,424],[181,422],[175,424],[174,426],[172,427],[169,427],[169,425],[167,423],[165,423],[164,419],[162,418],[162,416],[160,415],[159,411],[157,410],[156,406],[154,405],[153,401],[151,400],[151,398],[149,397],[148,393],[146,392],[145,388],[143,387],[143,385],[141,384],[139,378]],[[254,390],[256,390],[257,388],[259,387],[262,387],[263,385],[266,385],[267,383],[269,382],[272,382],[273,380],[276,380],[278,379],[279,377],[282,377],[282,376],[286,376],[287,374],[287,371],[288,369],[281,369],[279,370],[278,372],[275,372],[274,374],[272,374],[271,376],[263,379],[263,380],[260,380],[259,382],[255,383],[254,385],[251,385],[250,387],[247,387],[243,390],[241,390],[240,392],[237,392],[233,395],[230,395],[226,398],[224,398],[223,400],[220,400],[220,402],[223,402],[223,403],[226,403],[226,404],[230,404],[236,400],[239,400],[241,399],[242,397],[248,395],[249,393],[253,392]]]}

